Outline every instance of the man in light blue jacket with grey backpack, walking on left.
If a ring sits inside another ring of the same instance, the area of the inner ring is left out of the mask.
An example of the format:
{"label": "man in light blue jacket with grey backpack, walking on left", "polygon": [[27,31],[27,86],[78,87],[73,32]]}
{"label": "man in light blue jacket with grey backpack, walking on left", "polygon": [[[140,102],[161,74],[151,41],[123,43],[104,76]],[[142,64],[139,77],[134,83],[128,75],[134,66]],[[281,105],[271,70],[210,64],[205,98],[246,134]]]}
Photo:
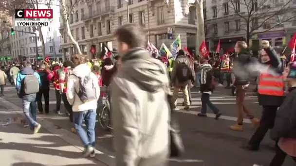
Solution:
{"label": "man in light blue jacket with grey backpack, walking on left", "polygon": [[30,122],[30,129],[38,133],[41,125],[37,123],[37,103],[36,97],[41,86],[40,76],[31,68],[31,63],[26,62],[24,67],[17,75],[16,88],[20,99],[22,99],[23,112]]}

